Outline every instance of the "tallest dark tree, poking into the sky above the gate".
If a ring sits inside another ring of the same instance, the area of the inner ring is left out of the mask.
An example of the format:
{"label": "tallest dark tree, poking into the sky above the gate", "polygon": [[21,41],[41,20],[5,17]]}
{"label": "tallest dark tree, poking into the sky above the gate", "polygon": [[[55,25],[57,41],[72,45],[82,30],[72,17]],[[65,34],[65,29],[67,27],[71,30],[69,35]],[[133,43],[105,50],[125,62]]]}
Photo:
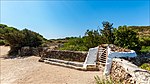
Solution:
{"label": "tallest dark tree, poking into the sky above the gate", "polygon": [[100,29],[102,37],[105,39],[105,43],[113,44],[114,43],[114,35],[113,35],[113,23],[109,23],[108,21],[103,21],[103,30]]}

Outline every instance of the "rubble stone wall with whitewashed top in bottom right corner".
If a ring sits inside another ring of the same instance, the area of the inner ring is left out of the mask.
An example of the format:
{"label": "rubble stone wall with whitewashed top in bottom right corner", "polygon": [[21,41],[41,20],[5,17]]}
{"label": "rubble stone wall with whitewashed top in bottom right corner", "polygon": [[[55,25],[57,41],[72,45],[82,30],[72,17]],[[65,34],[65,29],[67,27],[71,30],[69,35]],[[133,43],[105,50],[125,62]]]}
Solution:
{"label": "rubble stone wall with whitewashed top in bottom right corner", "polygon": [[150,84],[150,72],[124,59],[114,58],[110,76],[123,84]]}

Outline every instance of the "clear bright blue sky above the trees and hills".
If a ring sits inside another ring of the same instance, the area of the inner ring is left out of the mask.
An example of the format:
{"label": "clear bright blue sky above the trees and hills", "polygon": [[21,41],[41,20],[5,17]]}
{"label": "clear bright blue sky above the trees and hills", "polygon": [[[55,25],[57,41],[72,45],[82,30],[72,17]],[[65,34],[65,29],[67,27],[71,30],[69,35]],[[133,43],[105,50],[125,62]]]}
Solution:
{"label": "clear bright blue sky above the trees and hills", "polygon": [[87,29],[149,26],[150,0],[0,0],[0,23],[47,39],[83,36]]}

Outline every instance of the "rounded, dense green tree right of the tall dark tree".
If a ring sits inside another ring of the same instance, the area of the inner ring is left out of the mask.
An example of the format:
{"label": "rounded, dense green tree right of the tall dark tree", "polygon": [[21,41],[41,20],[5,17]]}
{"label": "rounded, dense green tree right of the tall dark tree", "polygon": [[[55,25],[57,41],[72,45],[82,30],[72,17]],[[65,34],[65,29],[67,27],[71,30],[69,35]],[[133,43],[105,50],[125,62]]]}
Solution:
{"label": "rounded, dense green tree right of the tall dark tree", "polygon": [[120,47],[140,50],[140,42],[137,37],[137,33],[130,30],[127,26],[119,26],[118,30],[115,30],[115,41],[114,43]]}

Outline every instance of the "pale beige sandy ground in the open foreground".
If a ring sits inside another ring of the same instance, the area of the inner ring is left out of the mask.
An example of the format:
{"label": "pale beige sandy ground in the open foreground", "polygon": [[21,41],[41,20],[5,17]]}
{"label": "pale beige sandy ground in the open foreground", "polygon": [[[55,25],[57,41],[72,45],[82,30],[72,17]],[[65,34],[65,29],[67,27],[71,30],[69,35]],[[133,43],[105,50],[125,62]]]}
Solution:
{"label": "pale beige sandy ground in the open foreground", "polygon": [[94,84],[99,71],[78,71],[38,62],[39,57],[4,59],[9,47],[0,46],[1,84]]}

